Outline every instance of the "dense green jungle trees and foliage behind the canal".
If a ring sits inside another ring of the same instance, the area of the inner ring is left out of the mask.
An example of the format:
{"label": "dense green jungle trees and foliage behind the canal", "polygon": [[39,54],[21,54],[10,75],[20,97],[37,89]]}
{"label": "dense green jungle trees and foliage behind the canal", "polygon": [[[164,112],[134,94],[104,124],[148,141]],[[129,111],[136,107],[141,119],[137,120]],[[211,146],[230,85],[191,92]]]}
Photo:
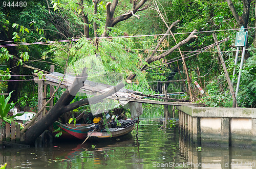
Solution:
{"label": "dense green jungle trees and foliage behind the canal", "polygon": [[[25,64],[46,71],[55,65],[55,71],[60,73],[79,73],[79,68],[86,66],[88,79],[110,85],[134,73],[136,77],[126,88],[144,94],[161,93],[165,81],[186,79],[165,82],[167,92],[185,92],[172,97],[212,107],[232,107],[217,48],[208,46],[215,43],[213,33],[218,41],[229,38],[220,48],[236,90],[242,50],[236,74],[232,76],[234,41],[241,26],[248,31],[248,43],[237,102],[239,107],[256,107],[255,1],[34,0],[9,5],[9,1],[5,2],[0,4],[0,87],[2,93],[13,91],[13,102],[22,98],[17,103],[21,109],[36,109],[33,73],[42,73],[23,67]],[[170,30],[173,35],[168,32],[153,53],[168,27],[177,20]],[[146,59],[152,54],[159,56],[170,50],[193,30],[197,30],[197,38],[182,45],[180,52],[176,49],[147,64]],[[147,66],[140,71],[143,65]],[[195,81],[205,95],[199,92]],[[58,90],[55,102],[63,91]]]}

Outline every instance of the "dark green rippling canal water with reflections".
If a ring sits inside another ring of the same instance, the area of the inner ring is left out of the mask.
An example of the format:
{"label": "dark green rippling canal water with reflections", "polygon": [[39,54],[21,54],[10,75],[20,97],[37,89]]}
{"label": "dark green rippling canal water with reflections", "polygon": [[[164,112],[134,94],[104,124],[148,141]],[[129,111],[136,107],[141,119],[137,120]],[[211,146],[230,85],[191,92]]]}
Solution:
{"label": "dark green rippling canal water with reflections", "polygon": [[[196,147],[179,137],[163,119],[141,119],[138,128],[111,142],[64,140],[47,147],[5,148],[6,168],[256,168],[252,148]],[[2,161],[1,161],[2,160]]]}

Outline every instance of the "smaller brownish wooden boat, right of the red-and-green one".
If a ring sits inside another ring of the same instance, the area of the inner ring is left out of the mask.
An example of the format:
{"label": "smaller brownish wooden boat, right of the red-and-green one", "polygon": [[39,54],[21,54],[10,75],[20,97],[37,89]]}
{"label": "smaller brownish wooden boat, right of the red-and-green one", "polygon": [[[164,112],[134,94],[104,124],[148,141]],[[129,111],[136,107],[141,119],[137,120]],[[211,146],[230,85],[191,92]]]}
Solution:
{"label": "smaller brownish wooden boat, right of the red-and-green one", "polygon": [[120,137],[124,136],[126,134],[129,134],[131,131],[133,131],[135,123],[137,120],[122,120],[119,121],[121,126],[115,126],[112,127],[109,125],[109,129],[103,129],[101,131],[92,130],[88,132],[88,135],[90,136],[89,139],[95,139],[95,138],[114,138],[114,137]]}

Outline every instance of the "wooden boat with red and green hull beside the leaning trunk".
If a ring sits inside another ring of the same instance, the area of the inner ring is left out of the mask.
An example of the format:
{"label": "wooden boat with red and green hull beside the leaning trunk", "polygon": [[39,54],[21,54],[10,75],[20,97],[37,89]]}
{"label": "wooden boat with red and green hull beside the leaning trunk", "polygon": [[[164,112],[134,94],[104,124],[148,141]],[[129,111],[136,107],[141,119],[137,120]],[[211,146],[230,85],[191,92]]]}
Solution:
{"label": "wooden boat with red and green hull beside the leaning trunk", "polygon": [[[106,120],[110,120],[110,115],[106,114]],[[95,123],[92,124],[61,124],[57,121],[53,124],[53,129],[56,130],[58,127],[60,127],[64,132],[62,132],[63,136],[65,138],[72,138],[70,135],[79,138],[79,139],[85,139],[87,137],[88,131],[91,131],[94,129]],[[53,131],[54,131],[53,130]]]}

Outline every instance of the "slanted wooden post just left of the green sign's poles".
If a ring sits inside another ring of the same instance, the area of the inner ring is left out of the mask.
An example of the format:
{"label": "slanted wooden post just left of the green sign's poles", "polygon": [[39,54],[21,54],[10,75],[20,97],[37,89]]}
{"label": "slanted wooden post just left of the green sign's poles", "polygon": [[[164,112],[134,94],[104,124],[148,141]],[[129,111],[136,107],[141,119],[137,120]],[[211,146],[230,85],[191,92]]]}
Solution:
{"label": "slanted wooden post just left of the green sign's poles", "polygon": [[[216,34],[212,34],[212,36],[214,37],[214,41],[217,42]],[[235,93],[234,93],[234,89],[233,89],[231,80],[230,80],[228,72],[227,72],[226,64],[225,64],[223,56],[222,56],[220,45],[218,43],[216,45],[217,45],[219,57],[220,57],[220,60],[221,60],[221,64],[222,64],[222,67],[223,67],[223,70],[224,70],[224,73],[225,73],[225,76],[226,76],[226,79],[227,79],[228,87],[229,87],[229,90],[230,90],[230,93],[231,93],[231,96],[232,96],[232,99],[233,99],[233,107],[237,107],[237,99],[236,99],[236,96],[235,96]]]}

